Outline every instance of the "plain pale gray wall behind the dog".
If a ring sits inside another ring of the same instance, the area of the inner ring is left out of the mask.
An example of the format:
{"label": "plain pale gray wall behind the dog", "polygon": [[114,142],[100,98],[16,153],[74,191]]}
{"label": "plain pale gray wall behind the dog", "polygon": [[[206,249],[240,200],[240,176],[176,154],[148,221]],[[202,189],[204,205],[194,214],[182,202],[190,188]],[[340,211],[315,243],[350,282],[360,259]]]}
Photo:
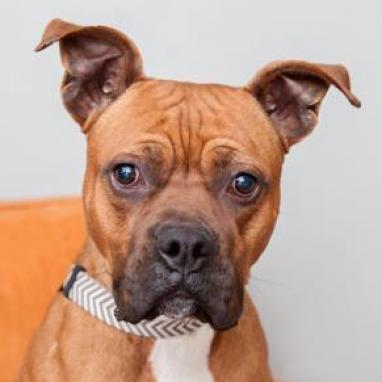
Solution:
{"label": "plain pale gray wall behind the dog", "polygon": [[343,63],[363,108],[331,90],[318,128],[291,150],[251,285],[277,376],[380,382],[380,15],[373,0],[3,1],[0,198],[80,192],[85,142],[59,99],[57,47],[32,52],[53,17],[122,29],[162,78],[241,85],[275,59]]}

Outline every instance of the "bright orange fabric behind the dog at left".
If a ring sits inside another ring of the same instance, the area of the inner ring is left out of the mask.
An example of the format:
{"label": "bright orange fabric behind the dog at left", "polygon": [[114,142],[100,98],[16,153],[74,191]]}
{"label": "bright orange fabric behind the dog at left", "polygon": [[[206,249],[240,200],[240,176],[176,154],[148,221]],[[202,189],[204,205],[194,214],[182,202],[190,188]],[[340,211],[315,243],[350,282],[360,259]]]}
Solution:
{"label": "bright orange fabric behind the dog at left", "polygon": [[15,376],[84,237],[78,198],[0,203],[0,381]]}

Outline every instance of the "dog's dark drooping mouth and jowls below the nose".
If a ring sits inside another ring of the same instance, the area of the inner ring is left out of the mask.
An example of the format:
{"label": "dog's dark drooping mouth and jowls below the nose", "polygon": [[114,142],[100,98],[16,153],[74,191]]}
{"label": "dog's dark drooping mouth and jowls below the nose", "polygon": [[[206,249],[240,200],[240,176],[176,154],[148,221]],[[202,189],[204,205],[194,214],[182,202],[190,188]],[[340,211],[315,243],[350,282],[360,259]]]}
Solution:
{"label": "dog's dark drooping mouth and jowls below the nose", "polygon": [[227,330],[240,318],[244,289],[230,261],[222,257],[204,271],[187,275],[150,262],[142,272],[115,278],[113,293],[117,318],[131,324],[163,315],[197,318],[215,330]]}

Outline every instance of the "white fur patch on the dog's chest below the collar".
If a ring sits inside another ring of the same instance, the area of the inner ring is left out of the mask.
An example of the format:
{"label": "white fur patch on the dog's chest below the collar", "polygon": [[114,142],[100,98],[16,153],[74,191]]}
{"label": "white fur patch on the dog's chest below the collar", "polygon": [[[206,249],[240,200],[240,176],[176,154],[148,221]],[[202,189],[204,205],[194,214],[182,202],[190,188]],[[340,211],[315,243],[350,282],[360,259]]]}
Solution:
{"label": "white fur patch on the dog's chest below the collar", "polygon": [[151,368],[156,382],[213,382],[209,354],[214,332],[203,325],[190,335],[155,341]]}

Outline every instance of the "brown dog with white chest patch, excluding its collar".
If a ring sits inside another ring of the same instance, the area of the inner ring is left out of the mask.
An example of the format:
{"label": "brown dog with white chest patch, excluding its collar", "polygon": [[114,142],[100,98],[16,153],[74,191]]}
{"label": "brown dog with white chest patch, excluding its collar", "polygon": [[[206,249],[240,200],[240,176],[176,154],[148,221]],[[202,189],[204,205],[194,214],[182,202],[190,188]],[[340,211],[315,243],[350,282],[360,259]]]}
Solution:
{"label": "brown dog with white chest patch, excluding its collar", "polygon": [[127,335],[61,293],[20,381],[272,381],[244,292],[280,203],[289,147],[310,133],[330,85],[355,106],[346,69],[283,61],[243,88],[147,78],[126,36],[53,20],[64,104],[88,140],[78,258],[113,291],[118,318],[208,323],[171,339]]}

